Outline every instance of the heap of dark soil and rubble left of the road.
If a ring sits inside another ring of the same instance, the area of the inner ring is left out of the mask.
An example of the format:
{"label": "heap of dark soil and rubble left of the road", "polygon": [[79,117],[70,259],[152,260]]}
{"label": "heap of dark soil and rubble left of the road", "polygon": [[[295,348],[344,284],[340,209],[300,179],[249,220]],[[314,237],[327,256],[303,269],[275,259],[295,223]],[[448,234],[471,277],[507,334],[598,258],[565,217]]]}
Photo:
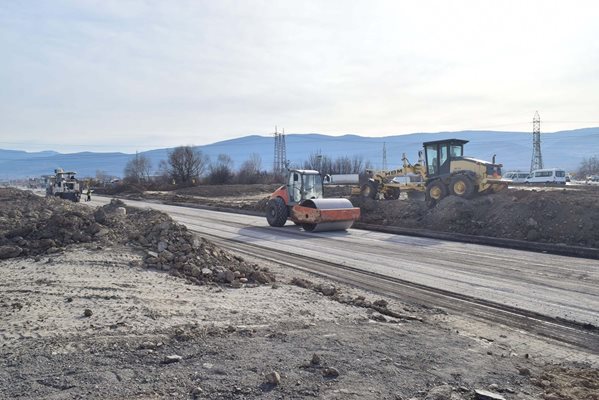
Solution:
{"label": "heap of dark soil and rubble left of the road", "polygon": [[78,243],[128,244],[142,248],[145,267],[203,284],[274,282],[256,264],[194,236],[184,225],[155,210],[127,207],[113,199],[96,210],[16,189],[0,189],[0,259],[40,256]]}

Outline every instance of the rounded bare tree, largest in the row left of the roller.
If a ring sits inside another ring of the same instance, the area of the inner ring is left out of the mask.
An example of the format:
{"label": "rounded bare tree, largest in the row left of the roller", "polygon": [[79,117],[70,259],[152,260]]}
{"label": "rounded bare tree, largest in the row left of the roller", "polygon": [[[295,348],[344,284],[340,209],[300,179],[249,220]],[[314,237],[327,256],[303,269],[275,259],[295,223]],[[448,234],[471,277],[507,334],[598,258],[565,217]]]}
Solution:
{"label": "rounded bare tree, largest in the row left of the roller", "polygon": [[210,163],[207,155],[191,146],[179,146],[168,153],[168,175],[176,184],[197,183]]}

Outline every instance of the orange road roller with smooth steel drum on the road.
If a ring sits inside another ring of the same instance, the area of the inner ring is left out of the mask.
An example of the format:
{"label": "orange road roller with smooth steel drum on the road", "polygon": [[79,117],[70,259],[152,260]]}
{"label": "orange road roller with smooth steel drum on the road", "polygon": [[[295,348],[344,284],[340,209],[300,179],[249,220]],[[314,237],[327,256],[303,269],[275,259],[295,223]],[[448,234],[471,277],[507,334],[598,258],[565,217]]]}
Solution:
{"label": "orange road roller with smooth steel drum on the road", "polygon": [[360,218],[360,209],[347,199],[324,199],[322,183],[318,171],[289,170],[287,184],[266,203],[268,224],[280,227],[291,220],[308,232],[349,229]]}

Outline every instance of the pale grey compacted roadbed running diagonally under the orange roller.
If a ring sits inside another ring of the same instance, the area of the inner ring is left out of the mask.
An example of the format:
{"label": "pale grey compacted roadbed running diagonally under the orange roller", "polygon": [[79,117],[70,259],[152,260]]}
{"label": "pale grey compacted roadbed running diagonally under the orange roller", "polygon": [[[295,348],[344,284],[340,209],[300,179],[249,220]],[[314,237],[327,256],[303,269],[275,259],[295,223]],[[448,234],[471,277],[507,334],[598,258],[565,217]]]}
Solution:
{"label": "pale grey compacted roadbed running diagonally under the orange roller", "polygon": [[[100,199],[97,201],[101,204]],[[314,234],[292,223],[280,229],[271,228],[263,217],[127,203],[167,212],[190,229],[221,239],[351,265],[428,287],[599,326],[596,260],[353,229]]]}

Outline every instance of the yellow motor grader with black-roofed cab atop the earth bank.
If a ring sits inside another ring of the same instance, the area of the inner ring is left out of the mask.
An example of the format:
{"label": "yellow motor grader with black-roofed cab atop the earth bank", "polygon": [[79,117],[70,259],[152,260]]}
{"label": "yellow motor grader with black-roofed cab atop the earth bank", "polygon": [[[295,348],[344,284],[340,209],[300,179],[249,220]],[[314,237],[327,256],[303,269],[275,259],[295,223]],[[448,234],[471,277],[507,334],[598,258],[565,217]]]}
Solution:
{"label": "yellow motor grader with black-roofed cab atop the earth bank", "polygon": [[429,205],[452,195],[472,198],[494,193],[507,187],[501,179],[501,164],[464,156],[467,140],[446,139],[423,143],[418,163],[412,165],[403,155],[403,167],[393,171],[368,170],[369,179],[360,194],[372,199],[398,199],[401,191],[408,195],[424,193]]}

